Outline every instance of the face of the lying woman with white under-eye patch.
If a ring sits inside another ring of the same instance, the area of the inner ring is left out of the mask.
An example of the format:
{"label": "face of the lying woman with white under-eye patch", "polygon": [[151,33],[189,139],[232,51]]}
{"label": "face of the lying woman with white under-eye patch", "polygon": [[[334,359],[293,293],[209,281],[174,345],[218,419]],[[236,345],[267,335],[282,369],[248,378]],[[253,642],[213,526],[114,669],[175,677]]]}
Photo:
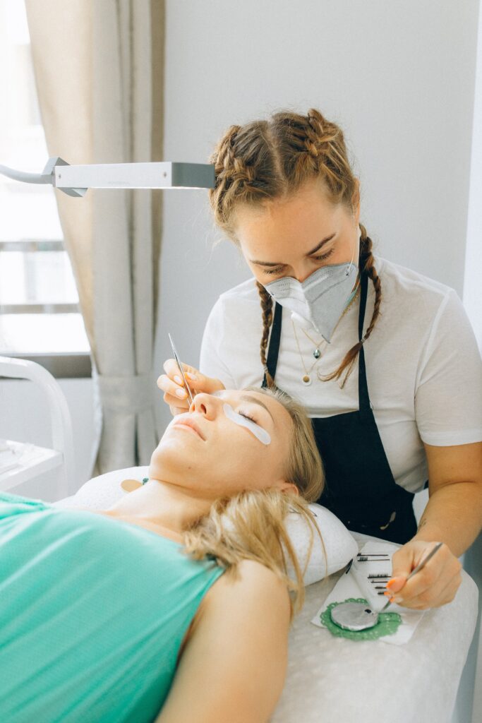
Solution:
{"label": "face of the lying woman with white under-eye patch", "polygon": [[283,405],[262,393],[197,394],[189,412],[174,417],[165,430],[149,476],[213,498],[285,488],[292,425]]}

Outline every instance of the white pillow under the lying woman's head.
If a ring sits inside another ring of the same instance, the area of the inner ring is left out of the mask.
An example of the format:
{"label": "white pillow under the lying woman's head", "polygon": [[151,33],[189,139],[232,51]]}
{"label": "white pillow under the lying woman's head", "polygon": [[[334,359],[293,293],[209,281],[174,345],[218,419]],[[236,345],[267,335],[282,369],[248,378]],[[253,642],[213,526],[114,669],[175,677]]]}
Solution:
{"label": "white pillow under the lying woman's head", "polygon": [[[136,479],[142,482],[149,476],[149,467],[127,467],[116,469],[113,472],[93,477],[72,497],[53,502],[58,507],[86,507],[91,510],[105,510],[114,505],[121,497],[128,495],[121,483],[126,479]],[[317,525],[322,534],[324,547],[327,552],[327,565],[325,566],[324,552],[319,536],[314,533],[313,549],[309,557],[308,566],[304,574],[305,585],[311,585],[322,580],[325,575],[341,570],[356,556],[358,544],[341,522],[330,510],[311,502],[311,511],[317,517]],[[310,530],[308,523],[298,513],[290,513],[286,521],[286,530],[295,549],[298,562],[303,570],[309,548]],[[289,558],[288,558],[289,560]],[[288,573],[294,576],[293,568],[288,565]]]}

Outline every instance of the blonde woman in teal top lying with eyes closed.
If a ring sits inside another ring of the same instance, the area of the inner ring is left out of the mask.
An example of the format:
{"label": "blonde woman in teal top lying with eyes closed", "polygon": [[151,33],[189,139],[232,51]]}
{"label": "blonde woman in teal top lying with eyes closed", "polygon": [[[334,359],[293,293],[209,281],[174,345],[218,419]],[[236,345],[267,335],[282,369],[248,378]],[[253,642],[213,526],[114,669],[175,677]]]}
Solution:
{"label": "blonde woman in teal top lying with eyes closed", "polygon": [[282,393],[198,394],[149,474],[95,512],[0,492],[1,721],[270,718],[304,602],[283,520],[311,523],[323,487],[309,419]]}

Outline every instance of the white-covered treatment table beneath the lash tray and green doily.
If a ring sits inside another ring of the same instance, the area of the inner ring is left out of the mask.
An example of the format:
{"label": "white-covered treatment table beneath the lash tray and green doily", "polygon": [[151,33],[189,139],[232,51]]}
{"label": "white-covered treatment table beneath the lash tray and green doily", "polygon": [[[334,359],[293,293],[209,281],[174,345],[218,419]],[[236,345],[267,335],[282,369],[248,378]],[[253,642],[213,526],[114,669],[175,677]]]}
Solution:
{"label": "white-covered treatment table beneath the lash tray and green doily", "polygon": [[[352,533],[361,548],[365,535]],[[478,588],[428,610],[403,646],[335,638],[310,620],[343,570],[306,588],[293,622],[285,687],[271,723],[449,723],[475,630]]]}

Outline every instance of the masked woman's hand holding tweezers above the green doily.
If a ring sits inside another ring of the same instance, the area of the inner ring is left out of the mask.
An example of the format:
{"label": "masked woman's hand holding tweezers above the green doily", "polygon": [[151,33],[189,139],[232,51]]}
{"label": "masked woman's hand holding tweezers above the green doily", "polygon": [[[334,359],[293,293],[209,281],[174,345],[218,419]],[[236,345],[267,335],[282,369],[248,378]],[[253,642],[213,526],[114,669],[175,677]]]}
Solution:
{"label": "masked woman's hand holding tweezers above the green doily", "polygon": [[[385,592],[392,602],[415,610],[442,607],[447,602],[452,602],[462,582],[462,565],[446,544],[442,545],[418,573],[406,581],[411,571],[435,545],[436,542],[410,540],[395,552],[392,557],[392,580],[387,583],[390,593]],[[390,607],[387,612],[389,610]]]}

